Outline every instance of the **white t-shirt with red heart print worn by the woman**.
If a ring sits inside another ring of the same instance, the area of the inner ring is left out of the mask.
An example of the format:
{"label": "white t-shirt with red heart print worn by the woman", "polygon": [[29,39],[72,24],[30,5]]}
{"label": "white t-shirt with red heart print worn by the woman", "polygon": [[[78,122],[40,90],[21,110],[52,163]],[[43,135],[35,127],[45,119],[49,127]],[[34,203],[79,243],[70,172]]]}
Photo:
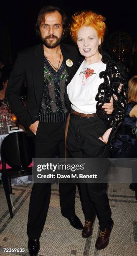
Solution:
{"label": "white t-shirt with red heart print worn by the woman", "polygon": [[84,60],[78,71],[67,86],[67,93],[71,102],[71,108],[79,113],[96,113],[96,94],[99,85],[104,82],[99,78],[99,73],[106,69],[106,64],[97,62],[86,64]]}

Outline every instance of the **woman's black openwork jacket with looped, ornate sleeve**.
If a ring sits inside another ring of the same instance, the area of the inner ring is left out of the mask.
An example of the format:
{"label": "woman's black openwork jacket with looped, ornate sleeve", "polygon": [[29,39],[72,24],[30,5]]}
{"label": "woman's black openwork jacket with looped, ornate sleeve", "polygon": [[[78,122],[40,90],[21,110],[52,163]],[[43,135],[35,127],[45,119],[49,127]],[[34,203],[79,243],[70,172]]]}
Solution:
{"label": "woman's black openwork jacket with looped, ornate sleeve", "polygon": [[[127,89],[128,79],[127,72],[124,65],[120,62],[114,61],[107,53],[102,53],[102,62],[106,63],[105,71],[100,72],[99,77],[104,78],[104,82],[99,85],[99,90],[96,95],[96,113],[104,120],[107,128],[112,128],[108,139],[108,147],[112,150],[117,137],[117,129],[124,120],[127,107]],[[79,68],[81,62],[77,64]],[[114,111],[111,115],[107,114],[102,108],[104,103],[110,102],[113,97]]]}

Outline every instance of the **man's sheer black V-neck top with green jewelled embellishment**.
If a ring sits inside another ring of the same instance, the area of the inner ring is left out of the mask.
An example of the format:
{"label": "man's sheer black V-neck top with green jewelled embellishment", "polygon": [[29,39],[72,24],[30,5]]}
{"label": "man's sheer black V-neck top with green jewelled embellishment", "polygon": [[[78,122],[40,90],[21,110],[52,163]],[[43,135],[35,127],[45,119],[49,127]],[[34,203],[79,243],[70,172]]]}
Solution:
{"label": "man's sheer black V-neck top with green jewelled embellishment", "polygon": [[65,61],[56,72],[44,56],[44,88],[40,114],[67,113],[64,99],[67,78]]}

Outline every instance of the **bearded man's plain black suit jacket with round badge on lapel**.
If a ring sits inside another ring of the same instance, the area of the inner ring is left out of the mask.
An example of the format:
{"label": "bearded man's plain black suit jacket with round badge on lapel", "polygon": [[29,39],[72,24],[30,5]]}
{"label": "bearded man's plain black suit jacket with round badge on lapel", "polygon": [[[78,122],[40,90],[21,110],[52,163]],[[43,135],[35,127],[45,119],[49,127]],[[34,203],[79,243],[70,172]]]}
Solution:
{"label": "bearded man's plain black suit jacket with round badge on lapel", "polygon": [[[76,72],[76,63],[79,61],[79,53],[75,46],[61,44],[63,59],[73,61],[72,67],[68,67],[68,83]],[[44,61],[43,44],[33,46],[18,54],[13,70],[10,74],[6,96],[13,112],[26,127],[34,123],[39,115],[44,86]],[[27,106],[20,100],[23,81],[27,83]],[[68,99],[66,99],[67,102]],[[69,104],[69,103],[68,103]]]}

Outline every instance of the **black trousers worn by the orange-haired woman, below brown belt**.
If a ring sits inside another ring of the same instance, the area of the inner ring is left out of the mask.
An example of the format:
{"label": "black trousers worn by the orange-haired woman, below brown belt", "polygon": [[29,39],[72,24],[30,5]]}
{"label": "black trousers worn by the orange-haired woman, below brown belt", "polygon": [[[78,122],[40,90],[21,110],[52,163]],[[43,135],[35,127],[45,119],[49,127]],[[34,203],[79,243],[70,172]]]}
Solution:
{"label": "black trousers worn by the orange-haired woman, below brown belt", "polygon": [[[99,117],[81,118],[71,114],[67,135],[67,149],[73,158],[107,158],[109,150],[98,138],[107,130]],[[105,168],[105,166],[104,166]],[[101,172],[101,170],[100,170]],[[111,209],[107,184],[79,184],[81,203],[86,220],[97,213],[101,229],[111,223]]]}

